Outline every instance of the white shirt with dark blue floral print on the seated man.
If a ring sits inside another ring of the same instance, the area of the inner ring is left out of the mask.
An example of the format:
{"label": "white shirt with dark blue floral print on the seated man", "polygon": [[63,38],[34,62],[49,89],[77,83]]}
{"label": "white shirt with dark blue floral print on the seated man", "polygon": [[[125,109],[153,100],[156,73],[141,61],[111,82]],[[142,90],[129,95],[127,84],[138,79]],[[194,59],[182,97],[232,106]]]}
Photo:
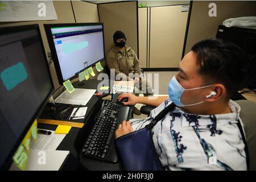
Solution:
{"label": "white shirt with dark blue floral print on the seated man", "polygon": [[[133,129],[142,129],[169,104],[167,98],[150,117],[131,120]],[[246,170],[245,144],[237,126],[240,106],[230,100],[229,107],[232,113],[216,115],[188,114],[179,107],[170,110],[152,129],[164,169]]]}

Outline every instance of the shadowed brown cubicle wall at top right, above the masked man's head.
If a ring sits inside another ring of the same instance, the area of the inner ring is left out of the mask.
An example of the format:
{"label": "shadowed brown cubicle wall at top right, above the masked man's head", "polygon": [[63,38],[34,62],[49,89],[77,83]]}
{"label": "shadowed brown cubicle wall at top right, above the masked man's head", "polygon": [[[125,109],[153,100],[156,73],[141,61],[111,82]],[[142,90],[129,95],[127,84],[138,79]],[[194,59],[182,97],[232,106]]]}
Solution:
{"label": "shadowed brown cubicle wall at top right, above the masked man's head", "polygon": [[210,17],[208,14],[209,3],[211,2],[193,1],[185,53],[188,53],[196,42],[216,37],[217,28],[224,20],[256,16],[256,1],[214,1],[216,17]]}

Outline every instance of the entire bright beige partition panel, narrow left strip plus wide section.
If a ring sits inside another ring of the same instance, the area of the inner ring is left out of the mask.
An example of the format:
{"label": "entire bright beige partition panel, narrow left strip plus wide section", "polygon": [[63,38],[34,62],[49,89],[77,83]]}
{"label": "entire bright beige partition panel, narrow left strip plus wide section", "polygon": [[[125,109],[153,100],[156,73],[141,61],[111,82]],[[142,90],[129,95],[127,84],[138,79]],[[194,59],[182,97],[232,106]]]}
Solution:
{"label": "entire bright beige partition panel, narrow left strip plus wide section", "polygon": [[181,60],[189,5],[139,8],[142,68],[177,68]]}

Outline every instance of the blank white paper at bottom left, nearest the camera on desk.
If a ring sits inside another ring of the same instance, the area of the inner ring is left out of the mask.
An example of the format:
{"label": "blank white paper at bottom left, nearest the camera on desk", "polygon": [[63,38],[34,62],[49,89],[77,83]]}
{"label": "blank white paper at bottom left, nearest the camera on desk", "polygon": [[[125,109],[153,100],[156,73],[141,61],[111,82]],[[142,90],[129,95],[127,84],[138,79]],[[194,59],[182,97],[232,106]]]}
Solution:
{"label": "blank white paper at bottom left, nearest the camera on desk", "polygon": [[58,171],[68,154],[62,150],[31,150],[26,171]]}

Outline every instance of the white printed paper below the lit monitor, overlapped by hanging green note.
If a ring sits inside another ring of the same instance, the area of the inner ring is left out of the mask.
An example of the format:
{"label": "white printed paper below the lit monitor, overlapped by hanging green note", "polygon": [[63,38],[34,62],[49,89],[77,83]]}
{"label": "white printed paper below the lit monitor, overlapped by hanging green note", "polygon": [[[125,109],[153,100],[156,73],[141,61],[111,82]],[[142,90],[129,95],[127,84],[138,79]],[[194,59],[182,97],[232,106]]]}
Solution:
{"label": "white printed paper below the lit monitor, overlapped by hanging green note", "polygon": [[55,99],[57,103],[74,104],[74,105],[86,105],[92,98],[96,89],[76,89],[72,94],[69,94],[67,90],[60,94]]}

